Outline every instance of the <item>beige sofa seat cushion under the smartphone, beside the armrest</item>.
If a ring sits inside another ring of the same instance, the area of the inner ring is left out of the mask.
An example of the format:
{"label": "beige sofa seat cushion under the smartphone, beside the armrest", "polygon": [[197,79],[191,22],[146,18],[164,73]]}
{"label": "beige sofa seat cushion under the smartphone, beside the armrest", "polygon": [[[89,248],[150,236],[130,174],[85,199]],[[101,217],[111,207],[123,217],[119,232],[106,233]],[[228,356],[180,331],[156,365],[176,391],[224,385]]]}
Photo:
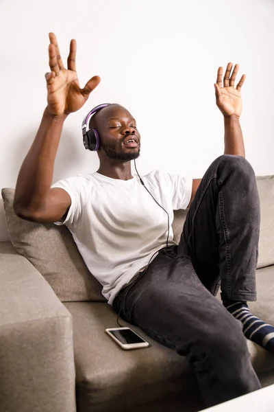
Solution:
{"label": "beige sofa seat cushion under the smartphone, beside the armrest", "polygon": [[132,411],[175,396],[181,406],[174,411],[182,410],[182,404],[188,411],[204,408],[186,358],[131,325],[152,345],[122,350],[105,333],[105,328],[117,327],[116,314],[108,304],[68,302],[65,306],[73,315],[77,412]]}

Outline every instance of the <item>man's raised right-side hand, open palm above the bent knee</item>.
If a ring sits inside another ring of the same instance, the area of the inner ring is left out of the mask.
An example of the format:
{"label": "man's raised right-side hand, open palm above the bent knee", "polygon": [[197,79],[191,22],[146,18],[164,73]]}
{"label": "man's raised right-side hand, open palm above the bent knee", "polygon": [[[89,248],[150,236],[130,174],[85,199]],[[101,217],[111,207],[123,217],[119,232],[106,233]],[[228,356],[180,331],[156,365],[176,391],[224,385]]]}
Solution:
{"label": "man's raised right-side hand, open palm above the bent knee", "polygon": [[219,67],[217,80],[214,84],[216,92],[216,105],[219,107],[224,116],[240,116],[242,113],[242,98],[240,95],[240,89],[242,84],[245,82],[245,74],[240,78],[237,86],[234,87],[236,75],[238,73],[239,65],[235,65],[232,71],[233,64],[228,63],[227,69],[225,71],[225,76],[223,78],[222,87],[222,77],[223,77],[223,67]]}

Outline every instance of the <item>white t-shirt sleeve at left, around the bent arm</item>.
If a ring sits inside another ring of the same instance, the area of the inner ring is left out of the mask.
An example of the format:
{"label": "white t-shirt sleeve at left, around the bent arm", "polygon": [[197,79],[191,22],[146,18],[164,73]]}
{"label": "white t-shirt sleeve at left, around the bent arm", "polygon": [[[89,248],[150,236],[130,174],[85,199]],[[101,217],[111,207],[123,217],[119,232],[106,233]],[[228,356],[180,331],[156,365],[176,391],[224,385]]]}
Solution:
{"label": "white t-shirt sleeve at left, around the bent arm", "polygon": [[88,181],[82,176],[69,177],[54,183],[51,187],[60,187],[65,190],[71,198],[71,206],[64,220],[55,222],[55,225],[66,225],[70,229],[79,222],[82,211],[86,204]]}

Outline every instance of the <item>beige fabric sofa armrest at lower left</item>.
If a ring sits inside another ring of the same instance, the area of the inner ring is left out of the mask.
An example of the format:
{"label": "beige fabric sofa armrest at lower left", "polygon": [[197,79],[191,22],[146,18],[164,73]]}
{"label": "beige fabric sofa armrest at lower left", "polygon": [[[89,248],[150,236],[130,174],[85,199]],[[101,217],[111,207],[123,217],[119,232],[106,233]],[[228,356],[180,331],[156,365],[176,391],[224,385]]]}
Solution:
{"label": "beige fabric sofa armrest at lower left", "polygon": [[0,411],[76,411],[71,314],[10,242],[0,242],[0,376]]}

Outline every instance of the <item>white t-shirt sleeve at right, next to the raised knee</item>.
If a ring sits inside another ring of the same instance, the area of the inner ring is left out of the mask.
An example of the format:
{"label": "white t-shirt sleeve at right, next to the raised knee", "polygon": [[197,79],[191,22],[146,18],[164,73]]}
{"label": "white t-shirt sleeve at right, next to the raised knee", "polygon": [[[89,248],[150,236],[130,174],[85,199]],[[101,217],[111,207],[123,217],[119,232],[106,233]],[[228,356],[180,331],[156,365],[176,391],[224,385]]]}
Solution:
{"label": "white t-shirt sleeve at right, next to the raised knee", "polygon": [[186,209],[190,203],[192,179],[169,173],[164,173],[163,177],[171,190],[173,210]]}

